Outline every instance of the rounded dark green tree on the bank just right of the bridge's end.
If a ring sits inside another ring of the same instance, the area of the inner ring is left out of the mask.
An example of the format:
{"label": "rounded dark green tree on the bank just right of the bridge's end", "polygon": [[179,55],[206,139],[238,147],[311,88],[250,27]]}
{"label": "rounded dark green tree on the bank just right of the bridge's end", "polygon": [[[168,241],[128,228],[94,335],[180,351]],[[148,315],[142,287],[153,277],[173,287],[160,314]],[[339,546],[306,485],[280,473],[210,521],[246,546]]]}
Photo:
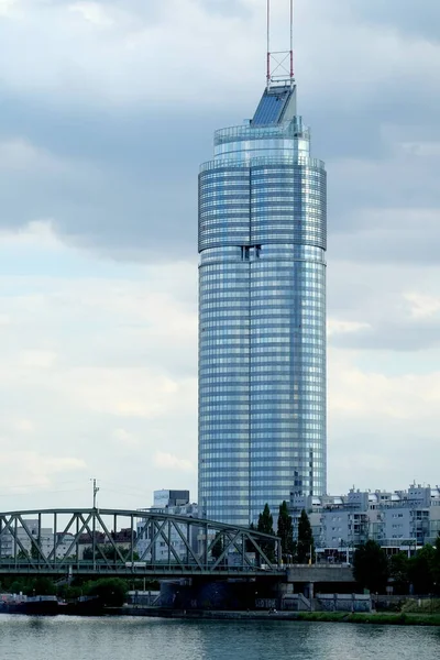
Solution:
{"label": "rounded dark green tree on the bank just right of the bridge's end", "polygon": [[358,584],[373,593],[384,593],[389,576],[389,564],[376,541],[360,546],[353,557],[353,575]]}

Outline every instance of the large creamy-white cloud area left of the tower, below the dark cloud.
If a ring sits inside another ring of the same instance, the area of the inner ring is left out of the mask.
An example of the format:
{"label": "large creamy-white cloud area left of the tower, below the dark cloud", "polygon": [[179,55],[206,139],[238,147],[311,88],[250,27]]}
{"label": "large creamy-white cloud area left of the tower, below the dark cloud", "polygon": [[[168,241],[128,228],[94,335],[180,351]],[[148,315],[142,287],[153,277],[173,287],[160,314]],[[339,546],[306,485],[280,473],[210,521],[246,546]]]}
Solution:
{"label": "large creamy-white cloud area left of the tower, below the dark cloud", "polygon": [[[48,253],[44,232],[33,230],[4,235],[3,266],[11,252],[13,266],[26,258],[43,271],[0,277],[0,315],[8,315],[0,326],[4,447],[24,453],[37,447],[50,458],[58,457],[62,446],[75,461],[87,457],[88,476],[102,483],[101,505],[144,506],[144,499],[123,488],[118,496],[106,484],[130,473],[139,492],[145,483],[148,491],[162,487],[169,477],[166,462],[174,475],[168,487],[195,492],[196,472],[188,466],[197,460],[197,265],[96,264],[63,244]],[[46,266],[38,255],[47,254]],[[76,275],[59,277],[66,262]],[[161,470],[151,459],[157,447],[169,454],[158,458]],[[182,455],[182,447],[185,458],[170,460]],[[28,466],[15,483],[26,480],[34,484],[32,492],[46,488],[47,479],[36,480]],[[61,471],[52,481],[64,491],[64,480]],[[4,506],[28,506],[24,496],[16,501],[16,491],[8,488]],[[66,506],[82,497],[56,495]],[[53,496],[42,491],[38,503],[51,506]]]}

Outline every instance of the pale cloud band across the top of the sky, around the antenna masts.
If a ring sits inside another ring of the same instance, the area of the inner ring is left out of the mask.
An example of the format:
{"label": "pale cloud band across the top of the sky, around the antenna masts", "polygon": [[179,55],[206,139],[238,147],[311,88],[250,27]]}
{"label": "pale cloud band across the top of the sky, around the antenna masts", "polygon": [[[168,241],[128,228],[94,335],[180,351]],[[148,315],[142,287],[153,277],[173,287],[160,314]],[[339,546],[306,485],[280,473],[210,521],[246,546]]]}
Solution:
{"label": "pale cloud band across the top of the sky, around the antenna masts", "polygon": [[[9,3],[3,7],[11,13]],[[198,103],[212,105],[228,91],[237,99],[264,81],[261,0],[246,0],[223,12],[204,0],[70,4],[22,0],[22,7],[21,20],[8,22],[1,46],[1,61],[8,66],[1,70],[0,65],[0,70],[12,89],[63,92],[66,98],[81,97],[85,103],[190,101],[194,85],[188,80],[197,72],[197,88],[204,90]],[[288,45],[283,9],[274,9],[276,50]],[[23,42],[26,53],[16,50]],[[435,82],[440,58],[435,43],[405,38],[389,26],[355,22],[345,2],[336,6],[328,0],[298,3],[296,47],[299,78],[317,90],[319,78],[319,94],[324,96],[338,90],[342,107],[348,97],[339,92],[348,80],[361,103],[389,78],[420,79],[422,72]],[[342,57],[343,52],[351,57]],[[164,85],[169,77],[173,84]]]}

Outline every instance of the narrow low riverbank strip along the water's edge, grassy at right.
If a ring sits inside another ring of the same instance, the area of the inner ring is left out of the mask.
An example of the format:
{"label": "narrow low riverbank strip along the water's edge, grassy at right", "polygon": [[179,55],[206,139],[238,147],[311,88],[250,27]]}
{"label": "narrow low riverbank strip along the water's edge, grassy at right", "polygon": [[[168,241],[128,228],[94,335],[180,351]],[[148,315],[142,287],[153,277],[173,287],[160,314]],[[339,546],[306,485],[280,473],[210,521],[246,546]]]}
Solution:
{"label": "narrow low riverbank strip along the water's edge, grassy at right", "polygon": [[[114,612],[114,614],[117,614]],[[373,624],[385,626],[440,626],[439,614],[349,613],[349,612],[229,612],[213,609],[165,609],[161,607],[122,607],[118,614],[191,620],[290,620],[334,624]]]}

